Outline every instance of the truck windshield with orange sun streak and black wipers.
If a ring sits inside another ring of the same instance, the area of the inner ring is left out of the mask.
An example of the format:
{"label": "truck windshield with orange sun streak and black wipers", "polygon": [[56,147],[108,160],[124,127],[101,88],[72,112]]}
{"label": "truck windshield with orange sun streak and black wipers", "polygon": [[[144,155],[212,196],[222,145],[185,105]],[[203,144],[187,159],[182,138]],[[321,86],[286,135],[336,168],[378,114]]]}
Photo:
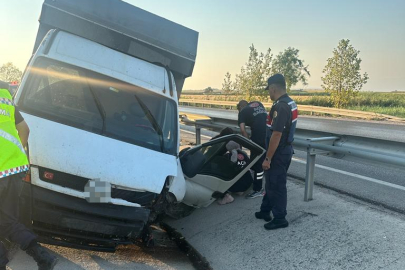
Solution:
{"label": "truck windshield with orange sun streak and black wipers", "polygon": [[65,63],[30,70],[22,111],[155,151],[176,155],[177,106],[139,86]]}

